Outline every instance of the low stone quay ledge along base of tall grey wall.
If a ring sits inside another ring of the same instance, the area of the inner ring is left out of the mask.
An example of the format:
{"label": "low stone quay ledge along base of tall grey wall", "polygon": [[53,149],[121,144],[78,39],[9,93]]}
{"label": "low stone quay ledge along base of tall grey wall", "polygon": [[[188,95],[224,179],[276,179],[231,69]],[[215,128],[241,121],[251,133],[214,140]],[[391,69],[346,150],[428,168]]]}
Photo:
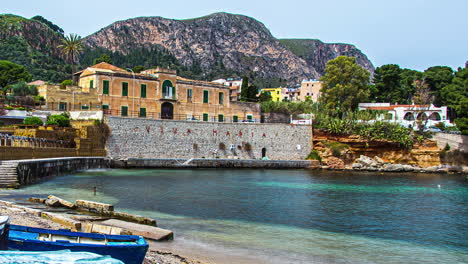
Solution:
{"label": "low stone quay ledge along base of tall grey wall", "polygon": [[117,168],[263,168],[302,169],[317,168],[315,160],[234,160],[234,159],[138,159],[113,160]]}

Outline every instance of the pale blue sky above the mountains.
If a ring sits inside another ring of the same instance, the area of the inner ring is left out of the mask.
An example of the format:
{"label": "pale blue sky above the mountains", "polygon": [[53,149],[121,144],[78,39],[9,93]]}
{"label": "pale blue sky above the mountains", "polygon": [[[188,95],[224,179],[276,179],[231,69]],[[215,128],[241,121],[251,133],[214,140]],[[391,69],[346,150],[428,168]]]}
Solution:
{"label": "pale blue sky above the mountains", "polygon": [[15,0],[0,13],[42,15],[83,37],[139,16],[187,19],[214,12],[253,17],[276,38],[356,45],[374,66],[425,70],[468,61],[468,0]]}

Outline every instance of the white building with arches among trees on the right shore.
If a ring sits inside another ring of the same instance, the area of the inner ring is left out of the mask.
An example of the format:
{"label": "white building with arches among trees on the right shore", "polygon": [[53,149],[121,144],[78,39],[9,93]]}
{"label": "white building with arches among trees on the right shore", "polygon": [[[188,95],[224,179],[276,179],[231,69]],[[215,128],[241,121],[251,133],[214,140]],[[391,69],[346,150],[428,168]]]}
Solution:
{"label": "white building with arches among trees on the right shore", "polygon": [[430,105],[390,105],[390,103],[360,103],[359,110],[383,110],[387,115],[381,115],[378,120],[397,122],[404,127],[418,128],[418,121],[425,127],[435,126],[442,122],[445,126],[453,126],[448,120],[447,107]]}

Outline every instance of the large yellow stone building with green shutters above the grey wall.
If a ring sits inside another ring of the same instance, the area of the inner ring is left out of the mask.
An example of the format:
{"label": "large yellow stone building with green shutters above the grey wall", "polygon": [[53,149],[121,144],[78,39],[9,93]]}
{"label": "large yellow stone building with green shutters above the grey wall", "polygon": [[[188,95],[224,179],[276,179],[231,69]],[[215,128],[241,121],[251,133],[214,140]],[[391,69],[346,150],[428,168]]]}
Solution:
{"label": "large yellow stone building with green shutters above the grey wall", "polygon": [[[231,102],[229,87],[177,76],[155,68],[128,72],[102,62],[75,74],[78,87],[44,85],[39,94],[54,110],[104,110],[105,114],[141,118],[216,122],[259,121],[260,106]],[[48,107],[50,109],[50,107]]]}

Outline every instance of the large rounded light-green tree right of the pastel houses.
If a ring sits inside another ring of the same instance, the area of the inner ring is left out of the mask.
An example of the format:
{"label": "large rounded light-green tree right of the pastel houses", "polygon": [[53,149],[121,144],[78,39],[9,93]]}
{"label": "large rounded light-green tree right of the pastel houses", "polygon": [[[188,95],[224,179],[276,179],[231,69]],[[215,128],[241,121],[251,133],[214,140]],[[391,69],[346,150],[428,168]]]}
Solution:
{"label": "large rounded light-green tree right of the pastel houses", "polygon": [[352,57],[339,56],[325,67],[320,102],[337,114],[353,111],[370,95],[370,73]]}

